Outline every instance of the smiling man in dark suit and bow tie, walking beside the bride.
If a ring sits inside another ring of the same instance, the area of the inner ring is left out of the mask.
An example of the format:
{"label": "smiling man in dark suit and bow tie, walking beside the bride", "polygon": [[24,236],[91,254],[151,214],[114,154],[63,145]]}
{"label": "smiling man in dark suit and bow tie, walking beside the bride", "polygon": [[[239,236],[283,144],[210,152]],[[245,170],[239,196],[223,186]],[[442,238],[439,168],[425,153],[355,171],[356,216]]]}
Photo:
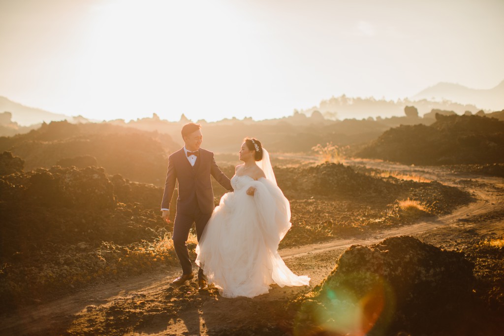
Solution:
{"label": "smiling man in dark suit and bow tie, walking beside the bride", "polygon": [[[169,207],[175,189],[175,181],[178,180],[177,207],[173,223],[173,246],[182,265],[182,275],[172,282],[177,286],[194,278],[186,242],[193,223],[196,223],[196,235],[198,241],[200,240],[214,210],[214,193],[210,175],[221,186],[233,191],[231,181],[215,163],[214,153],[200,148],[203,140],[201,126],[194,123],[186,124],[182,127],[181,133],[184,146],[168,158],[168,173],[161,202],[163,219],[169,222]],[[200,291],[208,289],[206,277],[201,268],[198,271],[198,289]]]}

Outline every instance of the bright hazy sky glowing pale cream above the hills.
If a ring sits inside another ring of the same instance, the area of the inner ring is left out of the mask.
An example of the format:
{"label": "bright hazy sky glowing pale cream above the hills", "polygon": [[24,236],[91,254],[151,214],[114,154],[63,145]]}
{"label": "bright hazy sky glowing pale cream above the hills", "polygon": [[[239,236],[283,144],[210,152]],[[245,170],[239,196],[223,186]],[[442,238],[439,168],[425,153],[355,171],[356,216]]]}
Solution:
{"label": "bright hazy sky glowing pale cream above the hills", "polygon": [[504,80],[502,0],[0,0],[0,95],[88,118],[291,115]]}

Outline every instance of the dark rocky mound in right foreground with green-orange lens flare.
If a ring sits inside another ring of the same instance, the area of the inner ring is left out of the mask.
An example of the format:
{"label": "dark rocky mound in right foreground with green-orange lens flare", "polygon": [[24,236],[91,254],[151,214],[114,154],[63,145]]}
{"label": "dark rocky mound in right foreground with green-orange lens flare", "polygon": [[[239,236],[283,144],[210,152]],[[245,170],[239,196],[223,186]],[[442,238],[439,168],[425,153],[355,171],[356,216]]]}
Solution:
{"label": "dark rocky mound in right foreground with green-orange lens flare", "polygon": [[299,334],[485,334],[473,267],[412,237],[352,246],[303,300]]}

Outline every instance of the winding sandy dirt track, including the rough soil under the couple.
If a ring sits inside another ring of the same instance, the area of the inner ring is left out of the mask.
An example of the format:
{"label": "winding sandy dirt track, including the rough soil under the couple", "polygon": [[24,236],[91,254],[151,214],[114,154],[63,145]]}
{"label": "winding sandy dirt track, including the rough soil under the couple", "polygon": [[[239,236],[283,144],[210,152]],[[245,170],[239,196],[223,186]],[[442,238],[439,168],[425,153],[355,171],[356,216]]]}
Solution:
{"label": "winding sandy dirt track, including the rough soil under the couple", "polygon": [[[368,245],[387,237],[412,235],[445,249],[461,249],[471,240],[504,235],[504,179],[461,176],[443,167],[415,167],[372,160],[346,163],[420,175],[469,191],[476,201],[449,215],[426,218],[414,225],[375,233],[364,239],[333,240],[281,250],[281,256],[295,273],[311,277],[309,288],[273,286],[269,294],[254,299],[226,299],[213,288],[198,293],[196,282],[181,288],[170,287],[171,280],[180,271],[166,268],[25,307],[1,318],[0,333],[192,335],[233,334],[237,328],[254,327],[250,334],[273,334],[273,326],[282,324],[281,316],[295,314],[284,311],[286,303],[320,284],[341,253],[351,245]],[[138,317],[136,312],[142,312],[143,317]],[[149,312],[149,318],[145,317],[145,312]],[[258,331],[257,325],[262,329]]]}

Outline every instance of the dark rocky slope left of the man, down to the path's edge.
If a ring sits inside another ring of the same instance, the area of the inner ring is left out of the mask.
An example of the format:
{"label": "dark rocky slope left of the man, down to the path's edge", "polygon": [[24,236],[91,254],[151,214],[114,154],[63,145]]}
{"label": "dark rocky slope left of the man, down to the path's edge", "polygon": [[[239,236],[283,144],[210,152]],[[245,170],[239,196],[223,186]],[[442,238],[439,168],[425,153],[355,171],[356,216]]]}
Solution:
{"label": "dark rocky slope left of the man, down to the path's edge", "polygon": [[96,167],[1,177],[0,310],[174,262],[162,192]]}

